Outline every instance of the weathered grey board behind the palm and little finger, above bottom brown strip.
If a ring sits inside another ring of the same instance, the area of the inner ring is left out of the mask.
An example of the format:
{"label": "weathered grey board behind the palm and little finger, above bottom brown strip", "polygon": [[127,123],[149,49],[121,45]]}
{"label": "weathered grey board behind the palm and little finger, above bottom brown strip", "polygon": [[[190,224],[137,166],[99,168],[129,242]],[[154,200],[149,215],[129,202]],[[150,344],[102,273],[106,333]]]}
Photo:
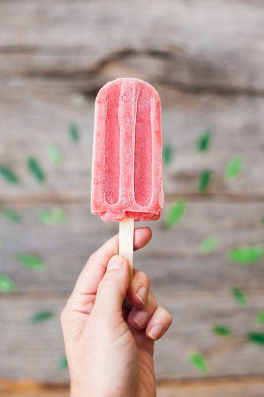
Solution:
{"label": "weathered grey board behind the palm and little finger, above bottom brown strip", "polygon": [[[167,335],[155,343],[157,380],[199,378],[201,375],[188,361],[192,351],[199,351],[207,358],[210,365],[207,377],[263,374],[263,350],[247,342],[244,336],[248,331],[259,329],[254,325],[254,317],[264,305],[261,294],[251,295],[250,308],[243,309],[230,296],[217,292],[185,295],[158,289],[153,292],[158,303],[173,316]],[[0,372],[4,379],[68,380],[67,370],[58,369],[64,352],[59,315],[68,295],[57,296],[23,294],[3,301]],[[44,309],[53,310],[54,317],[31,324],[31,316]],[[211,331],[214,323],[230,327],[233,336],[226,339],[215,335]]]}

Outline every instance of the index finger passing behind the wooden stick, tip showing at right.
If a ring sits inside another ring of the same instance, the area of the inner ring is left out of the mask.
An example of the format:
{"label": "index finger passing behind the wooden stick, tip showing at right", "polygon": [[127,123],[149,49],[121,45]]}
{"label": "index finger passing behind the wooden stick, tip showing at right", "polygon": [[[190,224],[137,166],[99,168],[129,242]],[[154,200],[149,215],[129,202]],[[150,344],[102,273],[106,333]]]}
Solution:
{"label": "index finger passing behind the wooden stick, tip showing at right", "polygon": [[[135,229],[134,250],[144,247],[151,239],[151,235],[152,232],[149,227]],[[96,294],[110,258],[118,254],[118,240],[119,234],[116,234],[90,257],[79,275],[73,294]]]}

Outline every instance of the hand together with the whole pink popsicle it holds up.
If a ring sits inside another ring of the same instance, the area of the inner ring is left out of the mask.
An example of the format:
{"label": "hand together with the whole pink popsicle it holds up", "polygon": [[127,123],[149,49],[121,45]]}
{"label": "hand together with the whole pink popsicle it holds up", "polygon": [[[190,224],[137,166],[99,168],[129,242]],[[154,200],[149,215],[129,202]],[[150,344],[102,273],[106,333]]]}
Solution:
{"label": "hand together with the whole pink popsicle it holds up", "polygon": [[89,259],[62,311],[71,397],[156,395],[153,344],[171,316],[132,271],[132,254],[151,237],[134,220],[158,219],[163,202],[159,96],[118,78],[96,99],[91,209],[120,232]]}

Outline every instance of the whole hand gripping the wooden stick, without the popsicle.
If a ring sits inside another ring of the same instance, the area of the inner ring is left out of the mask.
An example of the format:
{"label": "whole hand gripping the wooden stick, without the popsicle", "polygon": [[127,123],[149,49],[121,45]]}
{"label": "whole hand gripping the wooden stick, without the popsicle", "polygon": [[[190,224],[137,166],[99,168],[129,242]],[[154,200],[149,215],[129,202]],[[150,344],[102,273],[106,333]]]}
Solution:
{"label": "whole hand gripping the wooden stick, without the popsicle", "polygon": [[[135,230],[134,250],[151,239]],[[171,324],[145,273],[117,255],[118,234],[83,268],[61,313],[71,397],[154,397],[154,340]]]}

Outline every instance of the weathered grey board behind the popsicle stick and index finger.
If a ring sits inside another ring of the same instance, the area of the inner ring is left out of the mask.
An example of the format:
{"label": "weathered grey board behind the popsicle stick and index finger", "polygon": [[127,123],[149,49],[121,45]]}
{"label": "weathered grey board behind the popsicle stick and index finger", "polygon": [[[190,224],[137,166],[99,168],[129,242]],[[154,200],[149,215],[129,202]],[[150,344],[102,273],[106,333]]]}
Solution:
{"label": "weathered grey board behind the popsicle stick and index finger", "polygon": [[[19,292],[69,292],[89,256],[118,232],[118,222],[103,222],[84,204],[62,205],[67,214],[64,225],[46,226],[36,219],[36,210],[53,206],[11,206],[21,215],[14,223],[1,215],[0,269],[18,283]],[[134,266],[145,271],[155,288],[171,291],[225,291],[237,285],[248,291],[261,291],[263,261],[239,266],[226,260],[226,252],[237,245],[259,244],[264,226],[259,219],[262,202],[233,203],[219,200],[190,200],[182,223],[168,230],[161,218],[155,222],[136,222],[136,227],[152,228],[150,243],[134,254]],[[219,246],[211,253],[200,252],[205,237],[219,235]],[[47,267],[30,271],[19,264],[19,253],[36,254]]]}

